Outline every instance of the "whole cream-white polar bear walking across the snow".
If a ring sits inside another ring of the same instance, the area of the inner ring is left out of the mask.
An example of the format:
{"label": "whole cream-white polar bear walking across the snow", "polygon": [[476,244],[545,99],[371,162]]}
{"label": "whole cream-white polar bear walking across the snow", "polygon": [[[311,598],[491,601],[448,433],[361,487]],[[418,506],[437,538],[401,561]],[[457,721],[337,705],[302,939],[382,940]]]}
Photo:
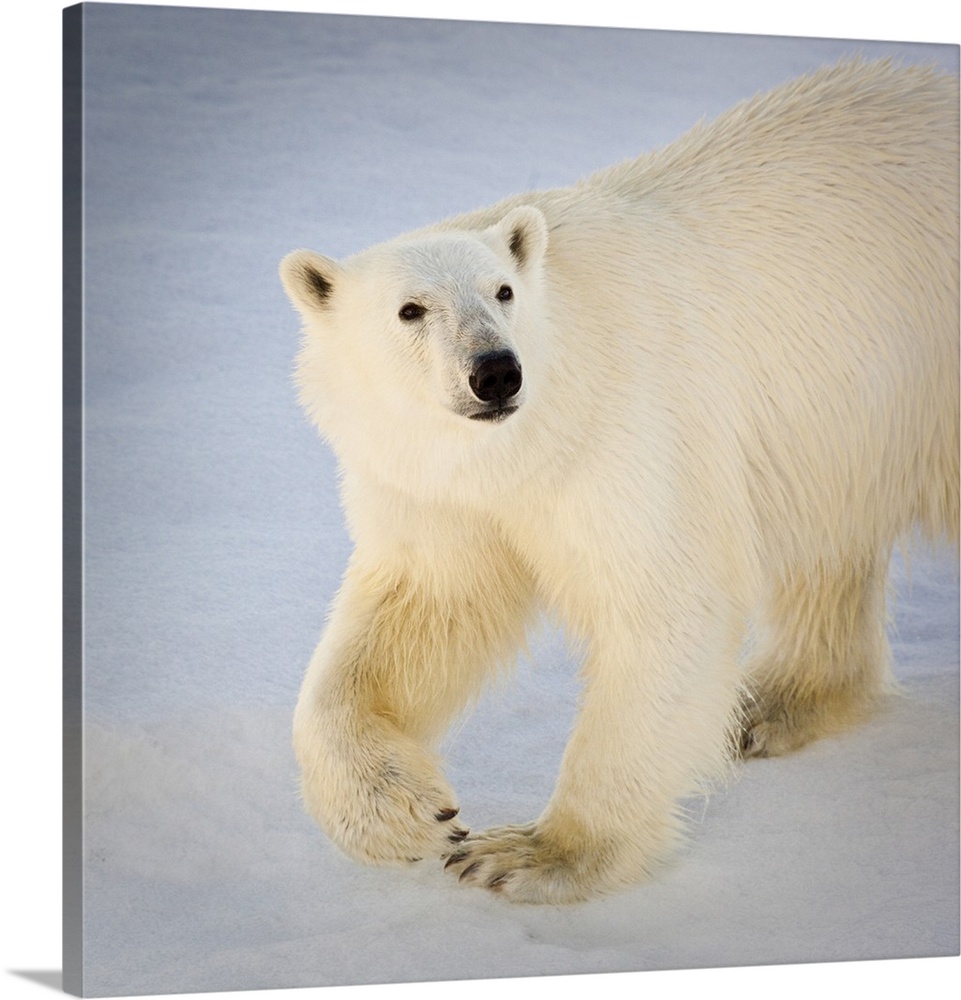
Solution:
{"label": "whole cream-white polar bear walking across the snow", "polygon": [[[281,276],[355,543],[294,718],[348,855],[587,899],[890,687],[892,547],[958,539],[956,78],[844,63]],[[584,651],[556,789],[468,834],[436,747],[540,611]]]}

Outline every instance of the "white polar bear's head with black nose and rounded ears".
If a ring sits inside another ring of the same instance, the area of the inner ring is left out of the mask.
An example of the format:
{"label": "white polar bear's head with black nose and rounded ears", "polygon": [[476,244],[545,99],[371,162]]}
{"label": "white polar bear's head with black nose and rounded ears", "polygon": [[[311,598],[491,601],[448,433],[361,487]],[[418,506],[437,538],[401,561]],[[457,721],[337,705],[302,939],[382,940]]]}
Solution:
{"label": "white polar bear's head with black nose and rounded ears", "polygon": [[543,213],[524,205],[486,229],[441,226],[344,261],[285,257],[304,320],[301,401],[335,448],[509,422],[537,381],[547,240]]}

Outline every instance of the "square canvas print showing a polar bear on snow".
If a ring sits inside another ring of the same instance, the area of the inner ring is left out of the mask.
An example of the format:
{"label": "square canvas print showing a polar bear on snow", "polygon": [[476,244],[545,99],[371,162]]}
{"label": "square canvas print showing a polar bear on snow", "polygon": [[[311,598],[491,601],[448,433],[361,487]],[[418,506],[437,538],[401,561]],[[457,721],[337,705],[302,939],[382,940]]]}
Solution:
{"label": "square canvas print showing a polar bear on snow", "polygon": [[64,26],[68,992],[957,954],[958,47]]}

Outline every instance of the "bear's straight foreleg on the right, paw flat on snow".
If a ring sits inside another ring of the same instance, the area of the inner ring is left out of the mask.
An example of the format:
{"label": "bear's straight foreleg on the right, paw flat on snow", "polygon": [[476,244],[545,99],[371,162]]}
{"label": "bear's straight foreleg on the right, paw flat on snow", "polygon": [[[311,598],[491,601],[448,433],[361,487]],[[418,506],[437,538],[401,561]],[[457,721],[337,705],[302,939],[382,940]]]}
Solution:
{"label": "bear's straight foreleg on the right, paw flat on snow", "polygon": [[593,640],[547,808],[534,823],[472,834],[448,870],[527,903],[576,902],[650,876],[680,837],[680,800],[733,756],[737,637],[692,608]]}

